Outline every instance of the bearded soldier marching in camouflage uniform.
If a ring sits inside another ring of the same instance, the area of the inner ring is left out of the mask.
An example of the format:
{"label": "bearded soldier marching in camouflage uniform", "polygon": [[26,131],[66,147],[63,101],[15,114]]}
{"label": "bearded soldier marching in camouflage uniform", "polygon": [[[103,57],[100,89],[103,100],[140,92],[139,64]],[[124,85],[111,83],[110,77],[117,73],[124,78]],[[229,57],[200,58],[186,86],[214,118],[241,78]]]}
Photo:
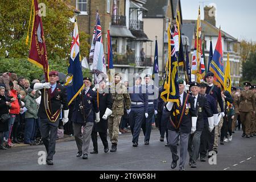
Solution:
{"label": "bearded soldier marching in camouflage uniform", "polygon": [[118,133],[119,133],[119,124],[121,122],[121,118],[124,107],[129,110],[131,106],[131,100],[129,93],[127,93],[127,88],[121,82],[112,86],[110,89],[112,93],[113,107],[112,107],[112,115],[110,115],[108,120],[109,127],[109,137],[112,144],[117,144],[118,142]]}

